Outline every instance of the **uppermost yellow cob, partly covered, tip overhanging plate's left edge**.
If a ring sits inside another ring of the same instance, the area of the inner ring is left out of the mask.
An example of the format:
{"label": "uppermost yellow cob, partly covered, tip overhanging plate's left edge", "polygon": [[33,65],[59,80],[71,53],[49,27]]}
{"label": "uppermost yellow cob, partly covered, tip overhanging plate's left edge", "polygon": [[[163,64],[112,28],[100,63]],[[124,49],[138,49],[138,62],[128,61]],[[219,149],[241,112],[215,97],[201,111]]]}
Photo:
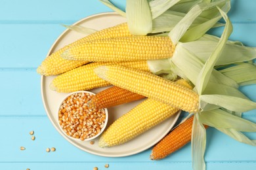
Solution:
{"label": "uppermost yellow cob, partly covered, tip overhanging plate's left edge", "polygon": [[128,30],[127,23],[119,24],[114,27],[109,27],[106,29],[102,29],[101,31],[97,31],[96,33],[88,35],[87,37],[83,37],[82,39],[79,39],[71,44],[68,44],[67,46],[64,46],[63,48],[60,48],[60,50],[45,58],[45,60],[37,68],[37,73],[45,76],[59,75],[81,65],[84,65],[85,63],[88,63],[88,61],[70,61],[61,58],[60,54],[70,48],[70,46],[74,46],[85,41],[93,41],[96,39],[110,39],[113,37],[127,36],[131,36]]}

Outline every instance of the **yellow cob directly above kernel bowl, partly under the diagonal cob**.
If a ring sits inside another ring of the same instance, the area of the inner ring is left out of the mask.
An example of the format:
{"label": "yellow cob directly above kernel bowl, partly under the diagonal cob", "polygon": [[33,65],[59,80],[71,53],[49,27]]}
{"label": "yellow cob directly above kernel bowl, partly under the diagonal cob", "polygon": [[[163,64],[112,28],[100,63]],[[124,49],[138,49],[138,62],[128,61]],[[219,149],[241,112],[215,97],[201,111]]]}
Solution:
{"label": "yellow cob directly above kernel bowl, partly under the diagonal cob", "polygon": [[90,90],[93,88],[99,88],[103,86],[109,86],[110,83],[106,80],[102,80],[95,73],[94,69],[100,65],[125,65],[127,67],[133,67],[144,71],[149,71],[146,61],[129,61],[129,62],[96,62],[83,65],[76,69],[72,69],[66,73],[56,76],[50,85],[51,90],[56,92],[75,92],[77,90]]}

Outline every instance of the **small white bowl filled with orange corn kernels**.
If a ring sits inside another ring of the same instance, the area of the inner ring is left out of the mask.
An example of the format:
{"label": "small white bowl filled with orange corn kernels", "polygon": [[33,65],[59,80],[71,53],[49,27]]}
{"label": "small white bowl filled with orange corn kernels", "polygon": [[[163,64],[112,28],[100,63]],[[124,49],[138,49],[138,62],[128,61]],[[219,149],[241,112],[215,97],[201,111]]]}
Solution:
{"label": "small white bowl filled with orange corn kernels", "polygon": [[89,101],[95,93],[78,91],[64,97],[58,107],[58,125],[62,132],[77,141],[98,137],[108,123],[107,109],[91,109]]}

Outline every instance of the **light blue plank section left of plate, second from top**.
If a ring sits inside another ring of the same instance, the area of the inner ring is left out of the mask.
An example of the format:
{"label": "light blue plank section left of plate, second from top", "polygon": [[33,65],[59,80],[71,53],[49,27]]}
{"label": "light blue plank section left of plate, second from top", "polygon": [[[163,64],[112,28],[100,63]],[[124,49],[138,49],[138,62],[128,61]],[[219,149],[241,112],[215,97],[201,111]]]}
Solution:
{"label": "light blue plank section left of plate, second from top", "polygon": [[0,68],[36,68],[64,30],[58,24],[1,25]]}

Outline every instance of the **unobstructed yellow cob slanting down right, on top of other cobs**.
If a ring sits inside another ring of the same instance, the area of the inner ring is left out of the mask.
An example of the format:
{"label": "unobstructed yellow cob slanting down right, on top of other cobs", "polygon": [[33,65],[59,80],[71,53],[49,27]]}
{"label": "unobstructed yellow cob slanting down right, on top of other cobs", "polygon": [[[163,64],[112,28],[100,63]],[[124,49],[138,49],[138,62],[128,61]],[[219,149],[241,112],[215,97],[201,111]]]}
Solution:
{"label": "unobstructed yellow cob slanting down right, on top of other cobs", "polygon": [[198,94],[177,82],[120,65],[101,66],[95,69],[95,73],[114,86],[139,93],[186,112],[198,112]]}

